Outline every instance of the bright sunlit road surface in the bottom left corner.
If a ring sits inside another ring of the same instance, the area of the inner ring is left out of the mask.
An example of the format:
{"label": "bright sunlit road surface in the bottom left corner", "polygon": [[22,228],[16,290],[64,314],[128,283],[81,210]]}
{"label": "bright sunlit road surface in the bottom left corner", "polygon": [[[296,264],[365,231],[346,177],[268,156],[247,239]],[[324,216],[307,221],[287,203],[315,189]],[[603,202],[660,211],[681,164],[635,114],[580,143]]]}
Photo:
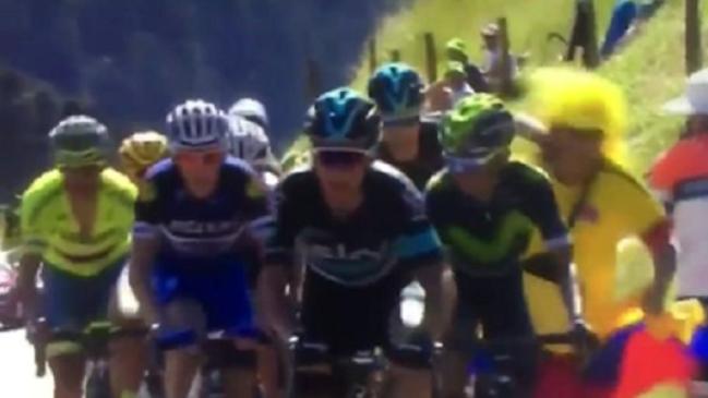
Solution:
{"label": "bright sunlit road surface in the bottom left corner", "polygon": [[[49,373],[49,370],[47,370]],[[35,377],[34,352],[24,330],[0,333],[3,397],[51,398],[51,376]]]}

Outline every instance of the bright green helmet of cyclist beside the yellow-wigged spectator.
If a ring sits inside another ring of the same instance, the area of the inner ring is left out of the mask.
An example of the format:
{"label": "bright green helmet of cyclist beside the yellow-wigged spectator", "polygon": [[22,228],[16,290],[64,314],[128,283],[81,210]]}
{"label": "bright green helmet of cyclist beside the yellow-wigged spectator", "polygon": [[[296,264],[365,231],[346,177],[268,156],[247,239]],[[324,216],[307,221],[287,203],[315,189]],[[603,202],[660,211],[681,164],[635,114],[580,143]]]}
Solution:
{"label": "bright green helmet of cyclist beside the yellow-wigged spectator", "polygon": [[506,150],[514,133],[514,117],[504,102],[490,94],[476,94],[445,114],[440,142],[451,171],[465,171]]}

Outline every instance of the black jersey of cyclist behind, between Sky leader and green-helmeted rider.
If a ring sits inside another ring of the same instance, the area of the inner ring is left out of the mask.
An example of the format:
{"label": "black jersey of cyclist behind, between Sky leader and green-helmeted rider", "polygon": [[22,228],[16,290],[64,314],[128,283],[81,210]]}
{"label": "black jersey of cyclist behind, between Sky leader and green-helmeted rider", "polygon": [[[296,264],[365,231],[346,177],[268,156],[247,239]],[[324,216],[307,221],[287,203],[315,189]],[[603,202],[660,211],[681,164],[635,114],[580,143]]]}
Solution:
{"label": "black jersey of cyclist behind, between Sky leader and green-helmeted rider", "polygon": [[415,159],[397,161],[385,143],[379,147],[379,159],[395,166],[411,179],[419,190],[422,190],[428,180],[443,167],[443,149],[437,141],[437,123],[421,121],[418,156]]}

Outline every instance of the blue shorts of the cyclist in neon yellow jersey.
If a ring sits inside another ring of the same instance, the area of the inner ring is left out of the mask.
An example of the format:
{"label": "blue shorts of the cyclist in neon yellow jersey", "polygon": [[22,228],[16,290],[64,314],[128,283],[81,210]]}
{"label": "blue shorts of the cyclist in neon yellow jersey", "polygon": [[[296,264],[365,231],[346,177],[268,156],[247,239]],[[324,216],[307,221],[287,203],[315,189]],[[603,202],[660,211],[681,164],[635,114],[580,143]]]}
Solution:
{"label": "blue shorts of the cyclist in neon yellow jersey", "polygon": [[93,322],[106,321],[108,303],[124,265],[123,257],[94,276],[83,277],[45,264],[41,309],[48,327],[81,331]]}

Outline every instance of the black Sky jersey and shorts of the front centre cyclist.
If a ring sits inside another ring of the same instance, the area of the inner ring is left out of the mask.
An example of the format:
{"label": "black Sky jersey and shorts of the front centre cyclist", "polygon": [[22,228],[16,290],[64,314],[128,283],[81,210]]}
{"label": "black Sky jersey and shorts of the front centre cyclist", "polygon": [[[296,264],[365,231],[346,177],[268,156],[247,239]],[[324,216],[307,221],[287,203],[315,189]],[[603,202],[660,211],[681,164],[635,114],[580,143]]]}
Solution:
{"label": "black Sky jersey and shorts of the front centre cyclist", "polygon": [[374,162],[363,203],[346,219],[327,207],[313,170],[280,183],[267,264],[305,266],[301,319],[307,338],[333,352],[387,347],[389,314],[418,266],[437,263],[441,246],[420,193],[399,171]]}

